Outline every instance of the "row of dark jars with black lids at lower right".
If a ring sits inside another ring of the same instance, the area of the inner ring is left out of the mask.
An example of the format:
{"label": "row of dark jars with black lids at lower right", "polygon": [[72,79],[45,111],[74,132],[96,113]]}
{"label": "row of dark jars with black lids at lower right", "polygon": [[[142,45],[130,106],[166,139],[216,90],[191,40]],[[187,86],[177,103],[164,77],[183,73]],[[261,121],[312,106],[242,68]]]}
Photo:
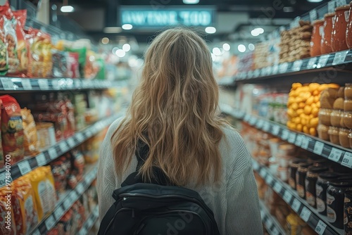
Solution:
{"label": "row of dark jars with black lids at lower right", "polygon": [[324,164],[324,160],[320,163],[308,163],[303,159],[292,161],[289,185],[321,215],[327,216],[334,227],[345,229],[345,234],[350,234],[352,227],[348,225],[352,224],[352,174],[330,172]]}

